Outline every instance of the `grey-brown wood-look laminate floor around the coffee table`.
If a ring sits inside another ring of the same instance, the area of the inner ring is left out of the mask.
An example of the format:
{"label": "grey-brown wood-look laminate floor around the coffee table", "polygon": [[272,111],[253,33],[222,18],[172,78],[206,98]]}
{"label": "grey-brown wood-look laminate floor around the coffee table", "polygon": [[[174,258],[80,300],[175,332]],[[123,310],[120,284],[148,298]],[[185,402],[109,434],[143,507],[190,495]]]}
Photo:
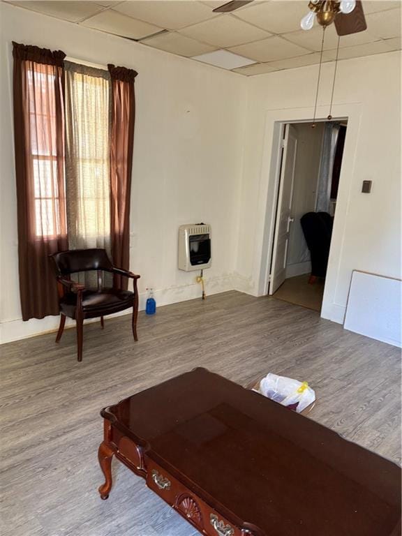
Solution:
{"label": "grey-brown wood-look laminate floor around the coffee table", "polygon": [[397,348],[347,332],[284,301],[226,292],[0,348],[2,536],[195,536],[195,530],[118,461],[108,500],[97,449],[99,411],[195,366],[248,385],[272,371],[308,380],[310,417],[399,462]]}

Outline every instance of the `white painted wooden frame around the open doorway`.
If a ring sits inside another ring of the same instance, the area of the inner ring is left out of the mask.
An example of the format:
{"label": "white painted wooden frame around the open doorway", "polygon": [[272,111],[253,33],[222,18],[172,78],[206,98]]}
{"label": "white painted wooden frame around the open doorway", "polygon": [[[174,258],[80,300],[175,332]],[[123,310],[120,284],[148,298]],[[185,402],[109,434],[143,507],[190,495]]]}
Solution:
{"label": "white painted wooden frame around the open doorway", "polygon": [[[347,120],[345,147],[341,176],[339,178],[336,214],[329,251],[327,278],[322,300],[321,316],[334,322],[343,323],[345,307],[337,303],[336,290],[342,260],[342,244],[345,237],[345,222],[355,170],[355,157],[361,121],[361,103],[333,106],[334,120]],[[316,121],[327,121],[328,106],[319,106]],[[258,229],[255,236],[255,281],[258,296],[267,295],[271,255],[274,240],[276,202],[278,197],[279,173],[281,167],[281,141],[287,123],[311,123],[311,107],[295,109],[267,110],[265,119],[265,150],[262,152],[260,177],[260,206],[258,207]]]}

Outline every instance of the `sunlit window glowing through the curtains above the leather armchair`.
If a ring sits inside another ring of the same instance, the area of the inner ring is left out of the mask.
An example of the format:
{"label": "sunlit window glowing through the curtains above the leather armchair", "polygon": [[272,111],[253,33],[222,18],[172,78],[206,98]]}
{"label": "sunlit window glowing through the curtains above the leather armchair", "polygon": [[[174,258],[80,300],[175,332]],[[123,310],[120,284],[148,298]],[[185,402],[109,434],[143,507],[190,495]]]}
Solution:
{"label": "sunlit window glowing through the curtains above the leather armchair", "polygon": [[[67,221],[72,247],[110,244],[110,76],[66,62]],[[55,77],[47,65],[27,73],[36,237],[61,232]]]}

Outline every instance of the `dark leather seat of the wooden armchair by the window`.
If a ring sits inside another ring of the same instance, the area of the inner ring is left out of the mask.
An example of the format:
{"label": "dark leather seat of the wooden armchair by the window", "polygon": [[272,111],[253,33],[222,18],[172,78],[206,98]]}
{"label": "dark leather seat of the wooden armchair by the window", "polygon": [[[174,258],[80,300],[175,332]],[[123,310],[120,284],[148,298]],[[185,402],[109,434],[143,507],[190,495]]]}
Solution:
{"label": "dark leather seat of the wooden armchair by the window", "polygon": [[[132,307],[134,303],[134,292],[114,288],[103,288],[101,292],[97,290],[84,290],[82,292],[82,312],[84,318],[96,318],[98,316],[111,315],[118,311],[123,311]],[[77,295],[75,292],[66,292],[60,300],[61,313],[75,318],[75,308],[77,306]]]}

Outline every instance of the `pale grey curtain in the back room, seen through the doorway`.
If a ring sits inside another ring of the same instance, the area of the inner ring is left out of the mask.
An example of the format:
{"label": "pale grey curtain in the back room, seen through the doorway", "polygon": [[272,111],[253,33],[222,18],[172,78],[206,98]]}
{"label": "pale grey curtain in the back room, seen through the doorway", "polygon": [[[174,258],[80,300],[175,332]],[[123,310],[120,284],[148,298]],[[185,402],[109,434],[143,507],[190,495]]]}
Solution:
{"label": "pale grey curtain in the back room, seen through the doorway", "polygon": [[324,138],[322,140],[320,174],[318,177],[316,212],[329,212],[330,210],[329,200],[331,198],[332,170],[334,169],[334,158],[339,128],[340,125],[338,123],[325,123]]}

